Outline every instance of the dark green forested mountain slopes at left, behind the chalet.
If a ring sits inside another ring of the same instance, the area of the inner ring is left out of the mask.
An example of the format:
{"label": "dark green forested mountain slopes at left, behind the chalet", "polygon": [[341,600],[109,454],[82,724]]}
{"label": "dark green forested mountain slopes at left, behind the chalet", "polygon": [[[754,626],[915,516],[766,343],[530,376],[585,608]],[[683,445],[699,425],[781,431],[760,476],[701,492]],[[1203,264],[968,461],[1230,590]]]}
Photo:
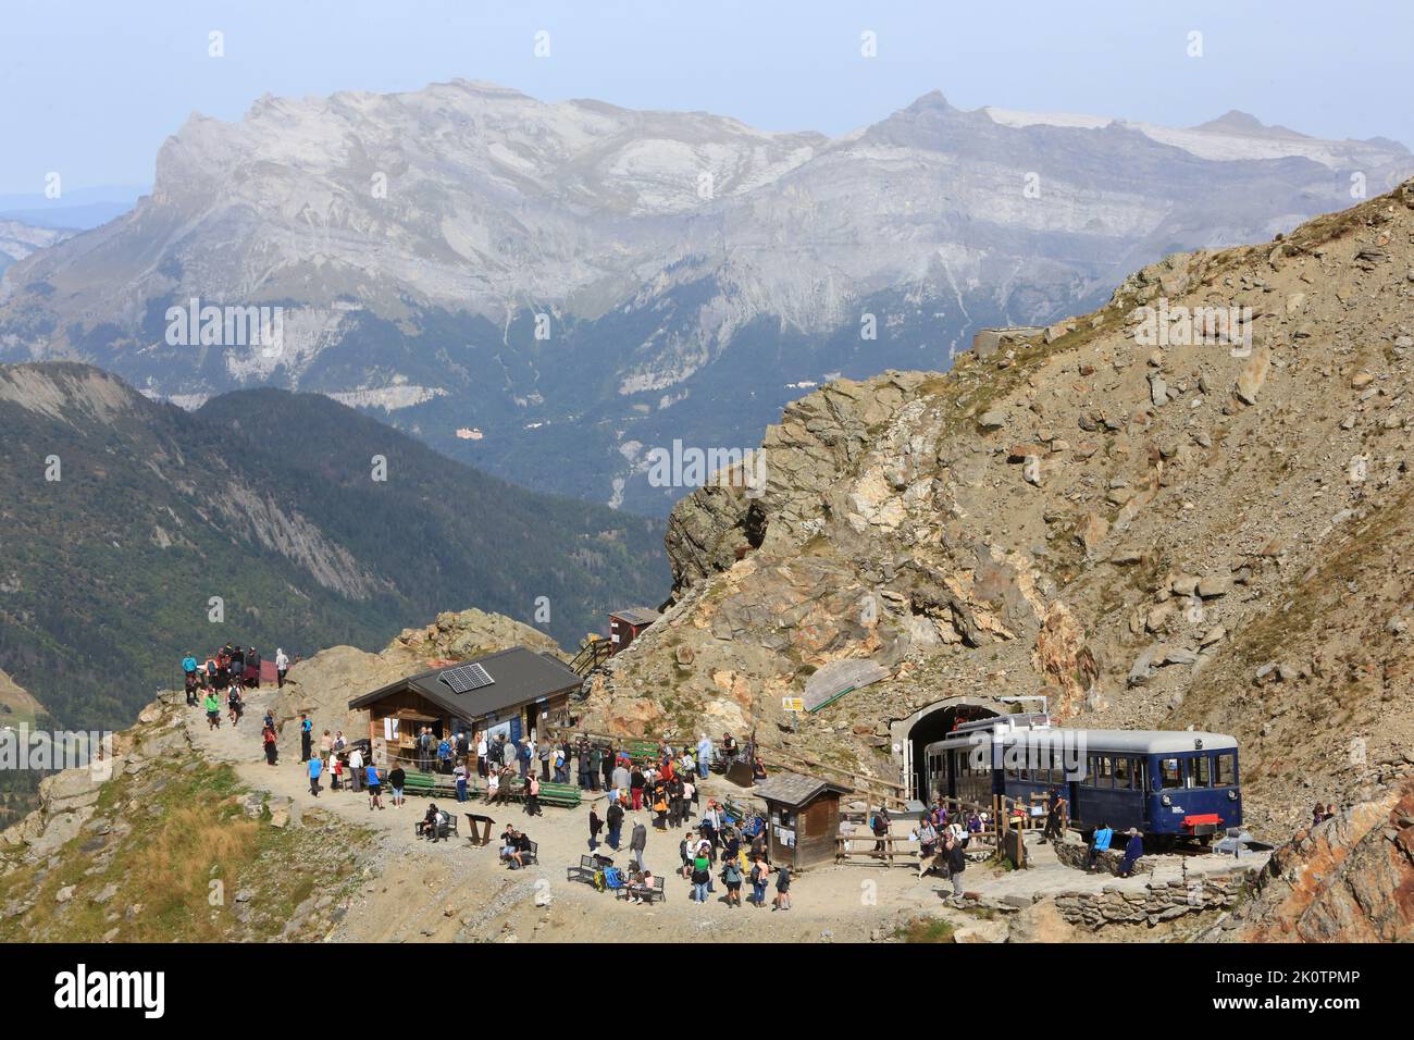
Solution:
{"label": "dark green forested mountain slopes at left, behind the chalet", "polygon": [[321,395],[185,412],[88,365],[0,365],[0,668],[69,727],[127,724],[228,640],[375,647],[469,599],[573,645],[667,590],[660,522],[488,477]]}

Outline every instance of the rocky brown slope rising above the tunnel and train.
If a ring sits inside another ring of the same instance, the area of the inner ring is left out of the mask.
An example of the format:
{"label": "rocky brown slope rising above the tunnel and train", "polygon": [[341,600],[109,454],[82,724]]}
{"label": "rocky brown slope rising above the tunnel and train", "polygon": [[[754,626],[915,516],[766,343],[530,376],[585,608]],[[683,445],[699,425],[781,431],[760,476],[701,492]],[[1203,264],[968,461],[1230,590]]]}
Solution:
{"label": "rocky brown slope rising above the tunnel and train", "polygon": [[[1162,308],[1205,307],[1250,308],[1250,348],[1148,342]],[[1366,799],[1414,771],[1411,335],[1404,184],[1167,258],[946,376],[822,388],[768,429],[759,494],[674,509],[676,603],[592,717],[896,775],[892,720],[1044,695],[1072,726],[1234,733],[1249,821],[1278,836],[1312,798]],[[863,658],[888,678],[790,732],[781,698]]]}

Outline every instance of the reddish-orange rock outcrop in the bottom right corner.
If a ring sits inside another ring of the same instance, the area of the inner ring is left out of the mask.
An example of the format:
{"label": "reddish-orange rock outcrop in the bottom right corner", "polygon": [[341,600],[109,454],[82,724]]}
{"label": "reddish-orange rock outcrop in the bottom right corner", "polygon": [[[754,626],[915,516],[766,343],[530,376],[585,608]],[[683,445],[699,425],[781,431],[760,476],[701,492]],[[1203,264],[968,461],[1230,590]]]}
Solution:
{"label": "reddish-orange rock outcrop in the bottom right corner", "polygon": [[1414,781],[1307,828],[1271,855],[1222,942],[1414,940]]}

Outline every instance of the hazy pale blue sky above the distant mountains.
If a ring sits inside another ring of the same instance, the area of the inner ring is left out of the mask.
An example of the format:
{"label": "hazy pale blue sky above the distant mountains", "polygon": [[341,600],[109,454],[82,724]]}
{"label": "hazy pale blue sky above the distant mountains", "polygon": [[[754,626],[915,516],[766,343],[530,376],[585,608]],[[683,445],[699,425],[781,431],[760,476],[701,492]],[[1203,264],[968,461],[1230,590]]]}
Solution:
{"label": "hazy pale blue sky above the distant mountains", "polygon": [[1406,0],[0,0],[0,192],[42,191],[48,171],[66,188],[148,184],[188,113],[236,119],[262,93],[457,76],[831,134],[937,89],[962,108],[1171,125],[1237,108],[1411,144],[1411,40]]}

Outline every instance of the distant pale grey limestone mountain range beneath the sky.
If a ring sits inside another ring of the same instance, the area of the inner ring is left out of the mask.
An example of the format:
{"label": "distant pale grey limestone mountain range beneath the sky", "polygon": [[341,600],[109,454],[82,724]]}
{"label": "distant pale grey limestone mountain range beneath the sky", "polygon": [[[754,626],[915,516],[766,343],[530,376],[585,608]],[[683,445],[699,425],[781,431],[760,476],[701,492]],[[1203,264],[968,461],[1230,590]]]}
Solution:
{"label": "distant pale grey limestone mountain range beneath the sky", "polygon": [[[735,449],[836,375],[946,368],[1414,171],[1403,146],[939,93],[843,137],[455,81],[192,116],[132,212],[14,265],[0,358],[185,406],[273,385],[375,409],[527,487],[665,514],[653,449]],[[277,349],[170,308],[281,308]]]}

